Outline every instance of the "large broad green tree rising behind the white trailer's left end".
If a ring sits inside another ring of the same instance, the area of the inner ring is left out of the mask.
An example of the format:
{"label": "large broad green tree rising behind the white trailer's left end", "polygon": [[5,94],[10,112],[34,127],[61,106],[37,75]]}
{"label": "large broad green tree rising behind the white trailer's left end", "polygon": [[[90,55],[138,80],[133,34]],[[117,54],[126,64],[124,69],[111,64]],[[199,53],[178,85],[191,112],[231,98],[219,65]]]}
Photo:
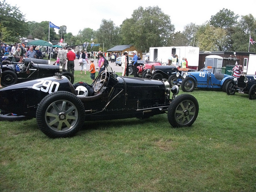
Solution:
{"label": "large broad green tree rising behind the white trailer's left end", "polygon": [[124,20],[121,25],[124,42],[144,52],[153,46],[166,46],[173,32],[170,16],[164,14],[158,6],[145,9],[140,6],[134,10],[132,18]]}

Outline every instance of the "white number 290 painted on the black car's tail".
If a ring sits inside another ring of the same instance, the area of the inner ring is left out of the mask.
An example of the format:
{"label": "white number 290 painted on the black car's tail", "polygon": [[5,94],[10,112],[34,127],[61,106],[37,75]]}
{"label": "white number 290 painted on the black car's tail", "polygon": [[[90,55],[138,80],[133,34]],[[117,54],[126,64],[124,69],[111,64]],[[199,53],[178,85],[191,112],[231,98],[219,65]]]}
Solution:
{"label": "white number 290 painted on the black car's tail", "polygon": [[51,81],[51,80],[38,80],[39,82],[34,84],[32,86],[33,89],[38,90],[38,91],[42,91],[42,92],[56,92],[58,91],[58,88],[60,86],[59,82],[55,82],[55,81]]}

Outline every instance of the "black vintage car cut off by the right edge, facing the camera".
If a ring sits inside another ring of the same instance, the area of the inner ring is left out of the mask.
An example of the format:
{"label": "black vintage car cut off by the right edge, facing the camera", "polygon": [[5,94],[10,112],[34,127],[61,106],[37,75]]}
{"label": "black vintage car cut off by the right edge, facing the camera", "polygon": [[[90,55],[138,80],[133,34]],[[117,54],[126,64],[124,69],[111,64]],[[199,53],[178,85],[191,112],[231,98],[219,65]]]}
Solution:
{"label": "black vintage car cut off by the right edge, facing the camera", "polygon": [[249,99],[256,99],[256,75],[242,74],[239,78],[226,84],[226,93],[234,95],[236,92],[249,94]]}

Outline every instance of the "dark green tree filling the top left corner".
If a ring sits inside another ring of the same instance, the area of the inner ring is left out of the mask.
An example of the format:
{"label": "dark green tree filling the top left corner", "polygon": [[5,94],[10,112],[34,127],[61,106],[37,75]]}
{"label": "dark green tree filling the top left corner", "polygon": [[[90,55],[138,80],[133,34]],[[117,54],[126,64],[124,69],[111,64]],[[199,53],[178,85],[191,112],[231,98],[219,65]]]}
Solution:
{"label": "dark green tree filling the top left corner", "polygon": [[7,4],[5,0],[0,1],[0,24],[2,29],[6,28],[8,31],[8,34],[4,36],[0,34],[0,37],[4,37],[0,40],[4,42],[18,42],[20,36],[24,36],[28,32],[24,15],[19,8]]}

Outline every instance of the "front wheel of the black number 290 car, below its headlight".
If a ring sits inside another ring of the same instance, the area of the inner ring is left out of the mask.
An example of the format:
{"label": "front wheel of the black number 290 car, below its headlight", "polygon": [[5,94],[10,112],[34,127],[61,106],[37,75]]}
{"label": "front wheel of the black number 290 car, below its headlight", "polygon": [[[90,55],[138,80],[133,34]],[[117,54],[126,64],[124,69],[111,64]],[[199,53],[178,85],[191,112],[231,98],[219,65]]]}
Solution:
{"label": "front wheel of the black number 290 car, below its headlight", "polygon": [[174,98],[168,107],[168,121],[173,127],[191,126],[199,112],[196,98],[189,94],[181,94]]}

